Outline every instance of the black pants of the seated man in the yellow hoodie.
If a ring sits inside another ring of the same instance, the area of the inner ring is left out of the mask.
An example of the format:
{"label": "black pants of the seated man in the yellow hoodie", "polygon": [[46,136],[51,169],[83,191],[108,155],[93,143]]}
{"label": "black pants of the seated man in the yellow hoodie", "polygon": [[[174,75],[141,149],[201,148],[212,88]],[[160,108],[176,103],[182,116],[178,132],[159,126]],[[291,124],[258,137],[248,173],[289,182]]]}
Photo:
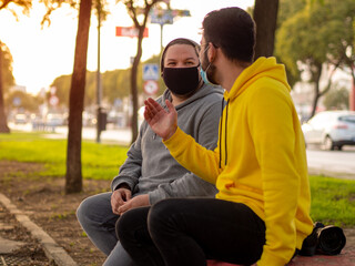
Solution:
{"label": "black pants of the seated man in the yellow hoodie", "polygon": [[202,266],[210,258],[251,265],[265,244],[265,224],[252,209],[215,198],[171,198],[131,209],[116,233],[142,266]]}

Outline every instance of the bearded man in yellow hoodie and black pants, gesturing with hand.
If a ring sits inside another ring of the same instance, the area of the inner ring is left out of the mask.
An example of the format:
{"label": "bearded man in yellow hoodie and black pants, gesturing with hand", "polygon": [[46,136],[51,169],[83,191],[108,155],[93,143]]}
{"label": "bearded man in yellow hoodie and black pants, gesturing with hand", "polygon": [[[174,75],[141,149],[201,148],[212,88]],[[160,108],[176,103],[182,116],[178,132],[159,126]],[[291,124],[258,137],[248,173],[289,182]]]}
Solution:
{"label": "bearded man in yellow hoodie and black pants, gesturing with hand", "polygon": [[255,24],[244,10],[204,18],[202,76],[222,85],[226,101],[214,151],[179,129],[169,101],[169,110],[145,101],[145,120],[171,154],[219,193],[123,215],[118,234],[138,265],[199,266],[213,258],[282,266],[311,234],[305,144],[285,69],[274,58],[253,62],[254,44]]}

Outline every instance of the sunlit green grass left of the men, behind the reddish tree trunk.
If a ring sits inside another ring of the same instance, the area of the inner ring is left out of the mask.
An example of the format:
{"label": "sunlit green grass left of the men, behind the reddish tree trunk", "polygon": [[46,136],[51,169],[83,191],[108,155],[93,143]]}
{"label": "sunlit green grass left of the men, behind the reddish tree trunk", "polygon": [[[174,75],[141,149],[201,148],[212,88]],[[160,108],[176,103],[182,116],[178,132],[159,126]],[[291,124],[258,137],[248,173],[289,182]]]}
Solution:
{"label": "sunlit green grass left of the men, behind the reddish tree trunk", "polygon": [[[111,180],[125,160],[126,146],[82,142],[83,178]],[[41,163],[40,176],[64,176],[67,141],[44,139],[40,133],[0,134],[0,160]],[[18,173],[20,174],[20,173]]]}

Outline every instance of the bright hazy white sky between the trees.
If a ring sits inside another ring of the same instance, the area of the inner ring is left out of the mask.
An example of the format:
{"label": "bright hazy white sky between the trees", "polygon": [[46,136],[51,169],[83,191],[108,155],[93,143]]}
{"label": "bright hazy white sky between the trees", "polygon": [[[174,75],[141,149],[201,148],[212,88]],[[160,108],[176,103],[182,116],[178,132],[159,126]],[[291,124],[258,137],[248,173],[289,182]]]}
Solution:
{"label": "bright hazy white sky between the trees", "polygon": [[[109,0],[110,2],[110,0]],[[101,72],[128,69],[136,53],[136,38],[115,37],[115,27],[131,27],[133,22],[122,3],[110,6],[111,14],[101,28]],[[215,9],[240,7],[246,9],[254,0],[171,0],[172,9],[190,10],[191,17],[179,18],[163,27],[163,45],[175,38],[201,40],[201,23],[204,16]],[[8,45],[13,58],[16,84],[37,94],[42,88],[49,90],[55,78],[71,74],[78,29],[78,11],[63,7],[51,14],[51,24],[41,27],[45,13],[42,4],[33,1],[30,16],[19,12],[19,20],[7,10],[0,11],[0,40]],[[161,28],[148,23],[149,37],[143,39],[142,61],[160,53]],[[98,70],[98,21],[92,16],[88,70]]]}

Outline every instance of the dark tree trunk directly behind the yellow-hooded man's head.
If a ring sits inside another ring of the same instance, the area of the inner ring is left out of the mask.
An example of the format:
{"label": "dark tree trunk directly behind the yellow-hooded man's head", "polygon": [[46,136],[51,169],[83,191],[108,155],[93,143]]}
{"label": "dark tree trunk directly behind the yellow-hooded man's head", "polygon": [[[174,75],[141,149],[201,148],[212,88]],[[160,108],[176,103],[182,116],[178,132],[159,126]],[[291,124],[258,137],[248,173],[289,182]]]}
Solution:
{"label": "dark tree trunk directly behind the yellow-hooded man's head", "polygon": [[278,0],[255,0],[254,20],[256,23],[255,57],[272,57],[274,53]]}

